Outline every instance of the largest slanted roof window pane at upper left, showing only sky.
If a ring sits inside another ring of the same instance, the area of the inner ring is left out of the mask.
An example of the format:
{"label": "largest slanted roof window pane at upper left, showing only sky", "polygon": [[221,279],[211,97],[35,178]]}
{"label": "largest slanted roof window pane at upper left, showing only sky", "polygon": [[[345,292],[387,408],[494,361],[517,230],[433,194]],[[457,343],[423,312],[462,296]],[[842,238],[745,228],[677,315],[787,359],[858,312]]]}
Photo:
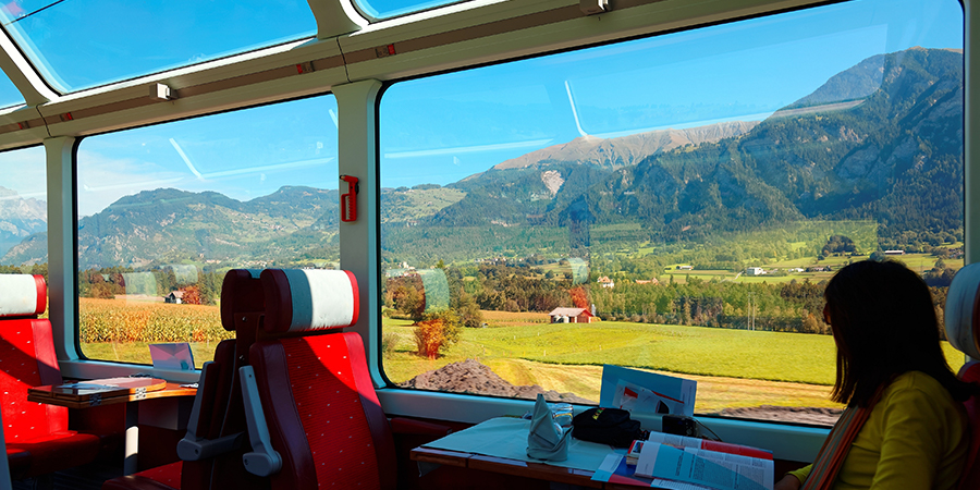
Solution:
{"label": "largest slanted roof window pane at upper left, showing only sky", "polygon": [[53,88],[74,91],[316,33],[304,0],[15,0],[0,20]]}

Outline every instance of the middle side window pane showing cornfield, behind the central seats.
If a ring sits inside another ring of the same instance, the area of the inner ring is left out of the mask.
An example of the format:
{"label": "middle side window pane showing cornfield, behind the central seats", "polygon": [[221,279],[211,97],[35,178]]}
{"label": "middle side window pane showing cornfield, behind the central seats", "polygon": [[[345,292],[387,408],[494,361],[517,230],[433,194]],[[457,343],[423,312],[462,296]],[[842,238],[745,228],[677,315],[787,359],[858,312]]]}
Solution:
{"label": "middle side window pane showing cornfield, behind the central seats", "polygon": [[199,367],[234,336],[229,269],[335,268],[335,118],[326,95],[82,140],[82,352],[149,363],[148,343],[189,342]]}

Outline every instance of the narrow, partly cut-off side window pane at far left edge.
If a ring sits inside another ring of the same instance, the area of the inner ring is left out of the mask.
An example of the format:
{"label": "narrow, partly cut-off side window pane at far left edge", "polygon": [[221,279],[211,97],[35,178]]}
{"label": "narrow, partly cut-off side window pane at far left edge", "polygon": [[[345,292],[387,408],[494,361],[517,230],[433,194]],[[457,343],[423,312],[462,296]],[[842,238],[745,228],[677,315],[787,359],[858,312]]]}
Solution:
{"label": "narrow, partly cut-off side window pane at far left edge", "polygon": [[48,278],[45,148],[0,152],[0,273]]}

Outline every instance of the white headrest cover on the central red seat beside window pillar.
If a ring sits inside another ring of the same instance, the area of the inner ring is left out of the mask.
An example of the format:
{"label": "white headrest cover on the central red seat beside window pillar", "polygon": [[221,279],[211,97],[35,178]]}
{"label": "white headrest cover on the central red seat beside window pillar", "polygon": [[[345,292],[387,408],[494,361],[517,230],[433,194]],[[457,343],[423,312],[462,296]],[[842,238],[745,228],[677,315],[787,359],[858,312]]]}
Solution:
{"label": "white headrest cover on the central red seat beside window pillar", "polygon": [[285,269],[293,296],[290,332],[347,327],[357,321],[353,279],[343,270]]}

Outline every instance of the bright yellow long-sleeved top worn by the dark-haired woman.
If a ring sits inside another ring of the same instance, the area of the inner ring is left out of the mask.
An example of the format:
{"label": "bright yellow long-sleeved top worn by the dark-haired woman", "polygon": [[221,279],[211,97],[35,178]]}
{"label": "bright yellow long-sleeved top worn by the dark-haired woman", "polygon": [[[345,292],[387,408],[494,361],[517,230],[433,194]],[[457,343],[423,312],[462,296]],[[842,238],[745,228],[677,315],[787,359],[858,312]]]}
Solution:
{"label": "bright yellow long-sleeved top worn by the dark-haired woman", "polygon": [[[874,405],[833,488],[955,489],[968,445],[963,404],[931,376],[906,372]],[[806,481],[810,466],[789,474]]]}

